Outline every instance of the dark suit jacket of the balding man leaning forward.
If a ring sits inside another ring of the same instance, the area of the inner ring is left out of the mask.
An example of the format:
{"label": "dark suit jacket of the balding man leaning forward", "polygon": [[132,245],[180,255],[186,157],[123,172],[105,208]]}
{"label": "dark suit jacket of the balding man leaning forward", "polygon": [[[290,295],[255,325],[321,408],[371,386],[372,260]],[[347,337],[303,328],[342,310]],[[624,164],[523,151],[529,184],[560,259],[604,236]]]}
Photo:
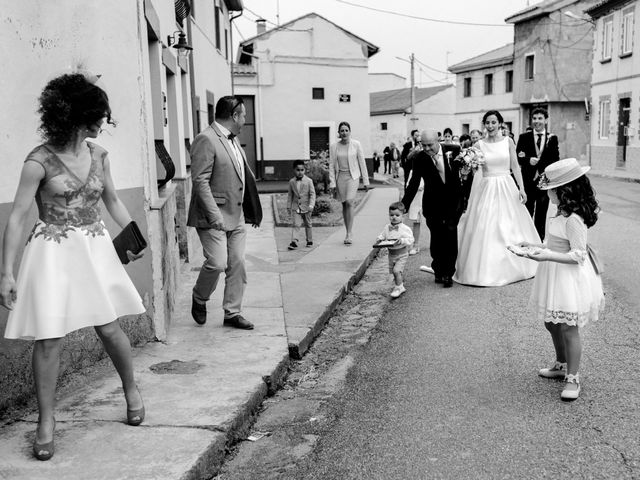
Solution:
{"label": "dark suit jacket of the balding man leaning forward", "polygon": [[[444,220],[450,224],[457,224],[464,210],[464,195],[460,182],[459,163],[453,159],[460,153],[458,145],[440,144],[443,153],[445,183],[442,183],[438,169],[433,159],[424,151],[412,156],[413,171],[411,179],[405,189],[402,203],[407,210],[420,187],[420,179],[424,180],[422,195],[422,214],[430,221]],[[449,159],[447,159],[447,152]]]}

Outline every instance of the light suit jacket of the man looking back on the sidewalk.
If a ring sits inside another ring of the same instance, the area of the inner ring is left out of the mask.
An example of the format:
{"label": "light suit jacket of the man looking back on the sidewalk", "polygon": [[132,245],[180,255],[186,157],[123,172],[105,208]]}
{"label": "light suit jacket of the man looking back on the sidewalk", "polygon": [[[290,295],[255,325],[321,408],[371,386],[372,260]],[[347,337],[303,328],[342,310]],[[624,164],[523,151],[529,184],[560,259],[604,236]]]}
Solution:
{"label": "light suit jacket of the man looking back on the sidewalk", "polygon": [[244,161],[244,181],[227,138],[215,124],[198,134],[191,146],[191,204],[187,225],[212,228],[224,222],[227,231],[235,229],[242,213],[246,223],[260,225],[262,207],[253,172],[244,150],[233,141]]}

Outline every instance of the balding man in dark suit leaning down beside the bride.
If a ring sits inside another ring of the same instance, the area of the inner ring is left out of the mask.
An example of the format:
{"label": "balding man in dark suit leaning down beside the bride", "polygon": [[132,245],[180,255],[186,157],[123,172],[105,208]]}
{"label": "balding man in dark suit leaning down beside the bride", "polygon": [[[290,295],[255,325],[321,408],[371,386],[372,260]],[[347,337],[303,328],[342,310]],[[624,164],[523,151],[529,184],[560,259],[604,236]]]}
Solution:
{"label": "balding man in dark suit leaning down beside the bride", "polygon": [[431,267],[436,283],[451,287],[458,258],[458,220],[464,208],[459,162],[454,162],[460,146],[438,142],[438,132],[424,130],[420,134],[422,151],[412,156],[413,173],[402,203],[406,210],[424,180],[422,214],[431,233]]}

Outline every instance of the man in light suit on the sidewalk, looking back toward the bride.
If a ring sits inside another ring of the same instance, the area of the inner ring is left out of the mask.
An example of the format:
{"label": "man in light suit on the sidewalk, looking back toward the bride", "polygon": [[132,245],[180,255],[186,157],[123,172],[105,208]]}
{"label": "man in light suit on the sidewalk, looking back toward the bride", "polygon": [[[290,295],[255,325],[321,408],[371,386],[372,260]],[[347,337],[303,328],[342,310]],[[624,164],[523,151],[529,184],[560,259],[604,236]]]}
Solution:
{"label": "man in light suit on the sidewalk, looking back toward the bride", "polygon": [[205,257],[193,287],[193,319],[199,325],[206,323],[206,302],[224,272],[224,325],[251,330],[253,324],[241,315],[247,283],[245,223],[260,226],[262,207],[255,177],[236,138],[245,117],[241,99],[222,97],[216,104],[215,121],[194,139],[187,225],[196,228]]}

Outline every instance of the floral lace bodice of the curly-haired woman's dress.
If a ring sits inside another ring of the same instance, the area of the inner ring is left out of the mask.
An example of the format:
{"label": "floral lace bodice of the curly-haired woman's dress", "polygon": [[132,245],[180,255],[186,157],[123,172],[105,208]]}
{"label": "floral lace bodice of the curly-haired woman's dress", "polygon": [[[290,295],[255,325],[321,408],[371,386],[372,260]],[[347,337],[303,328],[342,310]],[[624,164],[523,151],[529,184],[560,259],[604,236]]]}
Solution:
{"label": "floral lace bodice of the curly-haired woman's dress", "polygon": [[77,228],[93,236],[104,234],[99,201],[104,190],[103,162],[107,152],[90,142],[87,146],[91,166],[84,180],[45,145],[27,156],[25,162],[37,162],[45,171],[35,196],[38,216],[45,226],[35,236],[44,235],[45,239],[59,242],[60,237],[66,237],[66,231]]}

